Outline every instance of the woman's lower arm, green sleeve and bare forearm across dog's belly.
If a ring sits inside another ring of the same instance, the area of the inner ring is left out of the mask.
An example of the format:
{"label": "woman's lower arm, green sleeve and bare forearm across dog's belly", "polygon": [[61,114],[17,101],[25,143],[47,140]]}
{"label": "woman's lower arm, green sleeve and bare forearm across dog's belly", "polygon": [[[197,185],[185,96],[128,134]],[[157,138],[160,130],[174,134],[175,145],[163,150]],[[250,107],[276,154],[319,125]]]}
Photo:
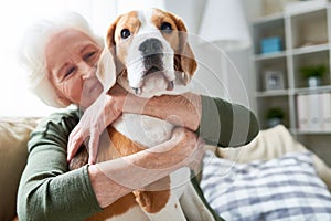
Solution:
{"label": "woman's lower arm, green sleeve and bare forearm across dog's belly", "polygon": [[[188,137],[175,136],[177,140],[191,140],[189,143],[191,145],[183,149],[174,148],[163,151],[169,146],[160,146],[154,149],[154,152],[142,151],[125,158],[125,161],[110,160],[102,165],[84,166],[77,170],[67,171],[67,137],[78,120],[77,112],[52,115],[32,133],[29,141],[29,159],[18,193],[20,220],[86,219],[99,212],[100,206],[107,206],[132,191],[134,187],[121,187],[106,175],[117,177],[125,175],[119,178],[124,183],[130,183],[132,177],[127,176],[130,166],[146,167],[149,172],[136,170],[131,175],[141,181],[137,183],[136,180],[136,187],[142,188],[177,168],[188,165],[191,159],[194,160],[195,152],[200,155],[202,152],[194,146],[196,135],[182,130],[179,135]],[[159,170],[152,172],[157,170],[151,170],[151,168]]]}

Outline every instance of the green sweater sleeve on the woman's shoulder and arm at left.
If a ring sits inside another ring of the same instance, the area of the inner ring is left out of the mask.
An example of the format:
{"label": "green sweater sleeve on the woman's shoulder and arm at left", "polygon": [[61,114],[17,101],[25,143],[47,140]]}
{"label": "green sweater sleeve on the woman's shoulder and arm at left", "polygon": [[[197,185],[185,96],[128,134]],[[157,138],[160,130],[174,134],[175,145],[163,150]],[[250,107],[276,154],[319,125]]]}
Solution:
{"label": "green sweater sleeve on the woman's shoulder and arm at left", "polygon": [[66,145],[78,112],[53,114],[31,134],[18,193],[19,220],[82,220],[102,210],[88,166],[67,171]]}

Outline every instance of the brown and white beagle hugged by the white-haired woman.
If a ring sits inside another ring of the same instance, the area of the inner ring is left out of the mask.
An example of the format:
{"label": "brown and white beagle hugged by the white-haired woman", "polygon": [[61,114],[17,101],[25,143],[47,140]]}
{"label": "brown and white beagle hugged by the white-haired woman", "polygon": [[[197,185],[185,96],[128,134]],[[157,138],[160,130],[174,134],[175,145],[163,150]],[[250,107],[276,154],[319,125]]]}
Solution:
{"label": "brown and white beagle hugged by the white-haired woman", "polygon": [[[142,97],[190,91],[196,61],[186,34],[180,18],[159,9],[118,17],[108,29],[107,50],[97,72],[105,91],[115,83]],[[169,141],[174,127],[154,117],[122,114],[107,128],[111,146],[99,148],[97,161]],[[214,220],[190,181],[189,168],[181,168],[152,185],[162,189],[136,190],[89,220]]]}

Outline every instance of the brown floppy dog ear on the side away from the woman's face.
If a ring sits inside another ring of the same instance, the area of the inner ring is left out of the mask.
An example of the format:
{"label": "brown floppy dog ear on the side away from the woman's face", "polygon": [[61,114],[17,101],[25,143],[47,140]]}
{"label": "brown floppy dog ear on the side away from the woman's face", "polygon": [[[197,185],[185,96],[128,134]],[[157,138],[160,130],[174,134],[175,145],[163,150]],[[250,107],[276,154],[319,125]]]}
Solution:
{"label": "brown floppy dog ear on the side away from the woman's face", "polygon": [[190,83],[194,72],[196,71],[197,64],[193,54],[193,51],[188,42],[188,30],[181,18],[172,14],[174,18],[177,28],[179,30],[179,51],[175,54],[175,67],[177,71],[183,72],[184,84]]}

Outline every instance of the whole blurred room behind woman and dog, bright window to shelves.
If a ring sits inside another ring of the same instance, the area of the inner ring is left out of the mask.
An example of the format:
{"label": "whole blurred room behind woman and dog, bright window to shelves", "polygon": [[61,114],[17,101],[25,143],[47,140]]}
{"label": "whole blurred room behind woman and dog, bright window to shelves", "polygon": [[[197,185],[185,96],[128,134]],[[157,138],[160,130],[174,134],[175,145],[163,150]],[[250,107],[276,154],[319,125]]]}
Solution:
{"label": "whole blurred room behind woman and dog, bright window to shelves", "polygon": [[[55,109],[29,92],[17,63],[22,32],[62,11],[82,13],[102,36],[128,10],[157,7],[181,17],[199,69],[194,91],[253,109],[261,129],[285,125],[330,160],[331,9],[328,0],[7,0],[0,3],[0,116]],[[329,162],[330,164],[330,162]]]}

